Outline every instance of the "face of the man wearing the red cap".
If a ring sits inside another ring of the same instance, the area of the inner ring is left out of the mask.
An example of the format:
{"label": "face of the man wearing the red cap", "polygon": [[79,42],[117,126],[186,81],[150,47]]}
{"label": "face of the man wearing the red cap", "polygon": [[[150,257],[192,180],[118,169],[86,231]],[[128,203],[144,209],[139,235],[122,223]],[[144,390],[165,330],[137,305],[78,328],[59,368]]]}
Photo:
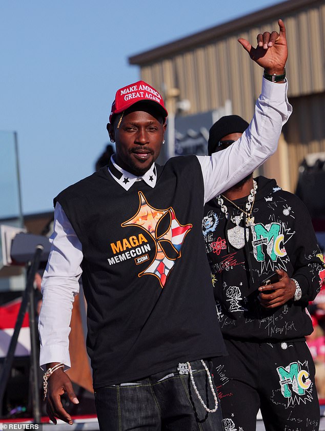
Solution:
{"label": "face of the man wearing the red cap", "polygon": [[144,175],[158,157],[166,130],[166,123],[150,106],[139,109],[125,113],[118,128],[121,114],[113,126],[108,125],[115,140],[117,165],[136,176]]}

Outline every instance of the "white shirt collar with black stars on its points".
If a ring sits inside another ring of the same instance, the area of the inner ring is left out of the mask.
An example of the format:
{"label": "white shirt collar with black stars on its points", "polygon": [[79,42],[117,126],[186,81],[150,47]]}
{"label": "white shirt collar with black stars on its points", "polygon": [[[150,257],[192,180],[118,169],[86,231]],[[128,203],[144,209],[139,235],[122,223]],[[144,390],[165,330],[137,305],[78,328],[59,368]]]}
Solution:
{"label": "white shirt collar with black stars on its points", "polygon": [[144,180],[151,188],[155,187],[157,181],[157,169],[155,163],[152,163],[150,169],[144,175],[137,177],[116,165],[112,156],[108,163],[108,171],[115,181],[118,182],[125,190],[129,190],[135,181]]}

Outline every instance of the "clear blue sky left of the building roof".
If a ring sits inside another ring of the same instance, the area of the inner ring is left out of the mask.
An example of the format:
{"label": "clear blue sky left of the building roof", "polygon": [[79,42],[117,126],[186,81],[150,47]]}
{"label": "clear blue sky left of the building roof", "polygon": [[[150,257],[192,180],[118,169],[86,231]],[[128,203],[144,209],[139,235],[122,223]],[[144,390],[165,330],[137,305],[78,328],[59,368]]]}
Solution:
{"label": "clear blue sky left of the building roof", "polygon": [[24,213],[93,172],[115,92],[139,79],[129,56],[277,3],[0,0],[0,130],[18,135]]}

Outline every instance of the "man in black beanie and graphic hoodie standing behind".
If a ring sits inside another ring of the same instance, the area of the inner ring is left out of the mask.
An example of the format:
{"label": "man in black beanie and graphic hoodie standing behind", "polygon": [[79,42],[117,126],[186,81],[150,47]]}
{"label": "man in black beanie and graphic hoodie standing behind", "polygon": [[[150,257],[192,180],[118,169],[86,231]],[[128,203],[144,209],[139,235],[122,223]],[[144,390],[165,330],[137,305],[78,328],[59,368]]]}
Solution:
{"label": "man in black beanie and graphic hoodie standing behind", "polygon": [[[248,126],[238,115],[220,118],[209,154],[240,151],[236,141]],[[319,403],[305,336],[324,265],[306,207],[274,179],[250,173],[206,204],[202,228],[229,353],[213,359],[225,423],[253,430],[260,408],[267,431],[300,421],[315,431]]]}

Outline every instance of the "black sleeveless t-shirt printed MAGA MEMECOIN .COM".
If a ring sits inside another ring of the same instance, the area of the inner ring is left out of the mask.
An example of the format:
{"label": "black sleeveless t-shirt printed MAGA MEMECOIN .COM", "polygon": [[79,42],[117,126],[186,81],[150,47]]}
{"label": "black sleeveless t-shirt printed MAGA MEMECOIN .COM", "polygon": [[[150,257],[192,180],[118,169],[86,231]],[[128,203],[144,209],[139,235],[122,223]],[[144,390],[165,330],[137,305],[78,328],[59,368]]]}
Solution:
{"label": "black sleeveless t-shirt printed MAGA MEMECOIN .COM", "polygon": [[126,191],[107,168],[60,193],[83,247],[94,387],[226,353],[201,222],[195,156],[157,166],[154,188]]}

